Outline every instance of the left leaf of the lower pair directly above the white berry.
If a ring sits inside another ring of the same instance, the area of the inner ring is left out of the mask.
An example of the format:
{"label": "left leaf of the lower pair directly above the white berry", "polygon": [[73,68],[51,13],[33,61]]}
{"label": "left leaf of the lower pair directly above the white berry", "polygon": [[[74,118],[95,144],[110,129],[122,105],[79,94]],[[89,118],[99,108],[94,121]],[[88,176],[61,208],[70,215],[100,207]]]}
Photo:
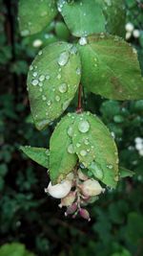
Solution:
{"label": "left leaf of the lower pair directly above the white berry", "polygon": [[65,116],[51,135],[50,175],[52,183],[59,183],[72,172],[77,156],[72,147],[72,124],[74,114]]}

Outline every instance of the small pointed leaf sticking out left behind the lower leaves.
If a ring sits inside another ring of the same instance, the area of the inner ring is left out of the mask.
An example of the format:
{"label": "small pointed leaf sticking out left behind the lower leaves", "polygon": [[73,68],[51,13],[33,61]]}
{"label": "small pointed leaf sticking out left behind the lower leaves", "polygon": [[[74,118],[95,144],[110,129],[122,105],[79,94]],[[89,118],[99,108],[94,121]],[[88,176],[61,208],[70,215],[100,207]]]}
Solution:
{"label": "small pointed leaf sticking out left behind the lower leaves", "polygon": [[20,150],[23,151],[27,156],[29,156],[34,162],[49,169],[49,150],[43,148],[34,148],[31,146],[21,146]]}

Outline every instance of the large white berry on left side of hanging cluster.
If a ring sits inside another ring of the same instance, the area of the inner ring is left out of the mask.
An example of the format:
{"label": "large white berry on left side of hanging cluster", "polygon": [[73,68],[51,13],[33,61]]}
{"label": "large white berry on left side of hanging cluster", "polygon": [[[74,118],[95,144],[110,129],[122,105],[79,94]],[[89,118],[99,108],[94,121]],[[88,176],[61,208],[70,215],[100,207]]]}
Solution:
{"label": "large white berry on left side of hanging cluster", "polygon": [[72,181],[63,180],[61,183],[56,185],[51,185],[51,182],[47,189],[45,189],[46,193],[49,193],[53,198],[65,198],[72,189]]}

